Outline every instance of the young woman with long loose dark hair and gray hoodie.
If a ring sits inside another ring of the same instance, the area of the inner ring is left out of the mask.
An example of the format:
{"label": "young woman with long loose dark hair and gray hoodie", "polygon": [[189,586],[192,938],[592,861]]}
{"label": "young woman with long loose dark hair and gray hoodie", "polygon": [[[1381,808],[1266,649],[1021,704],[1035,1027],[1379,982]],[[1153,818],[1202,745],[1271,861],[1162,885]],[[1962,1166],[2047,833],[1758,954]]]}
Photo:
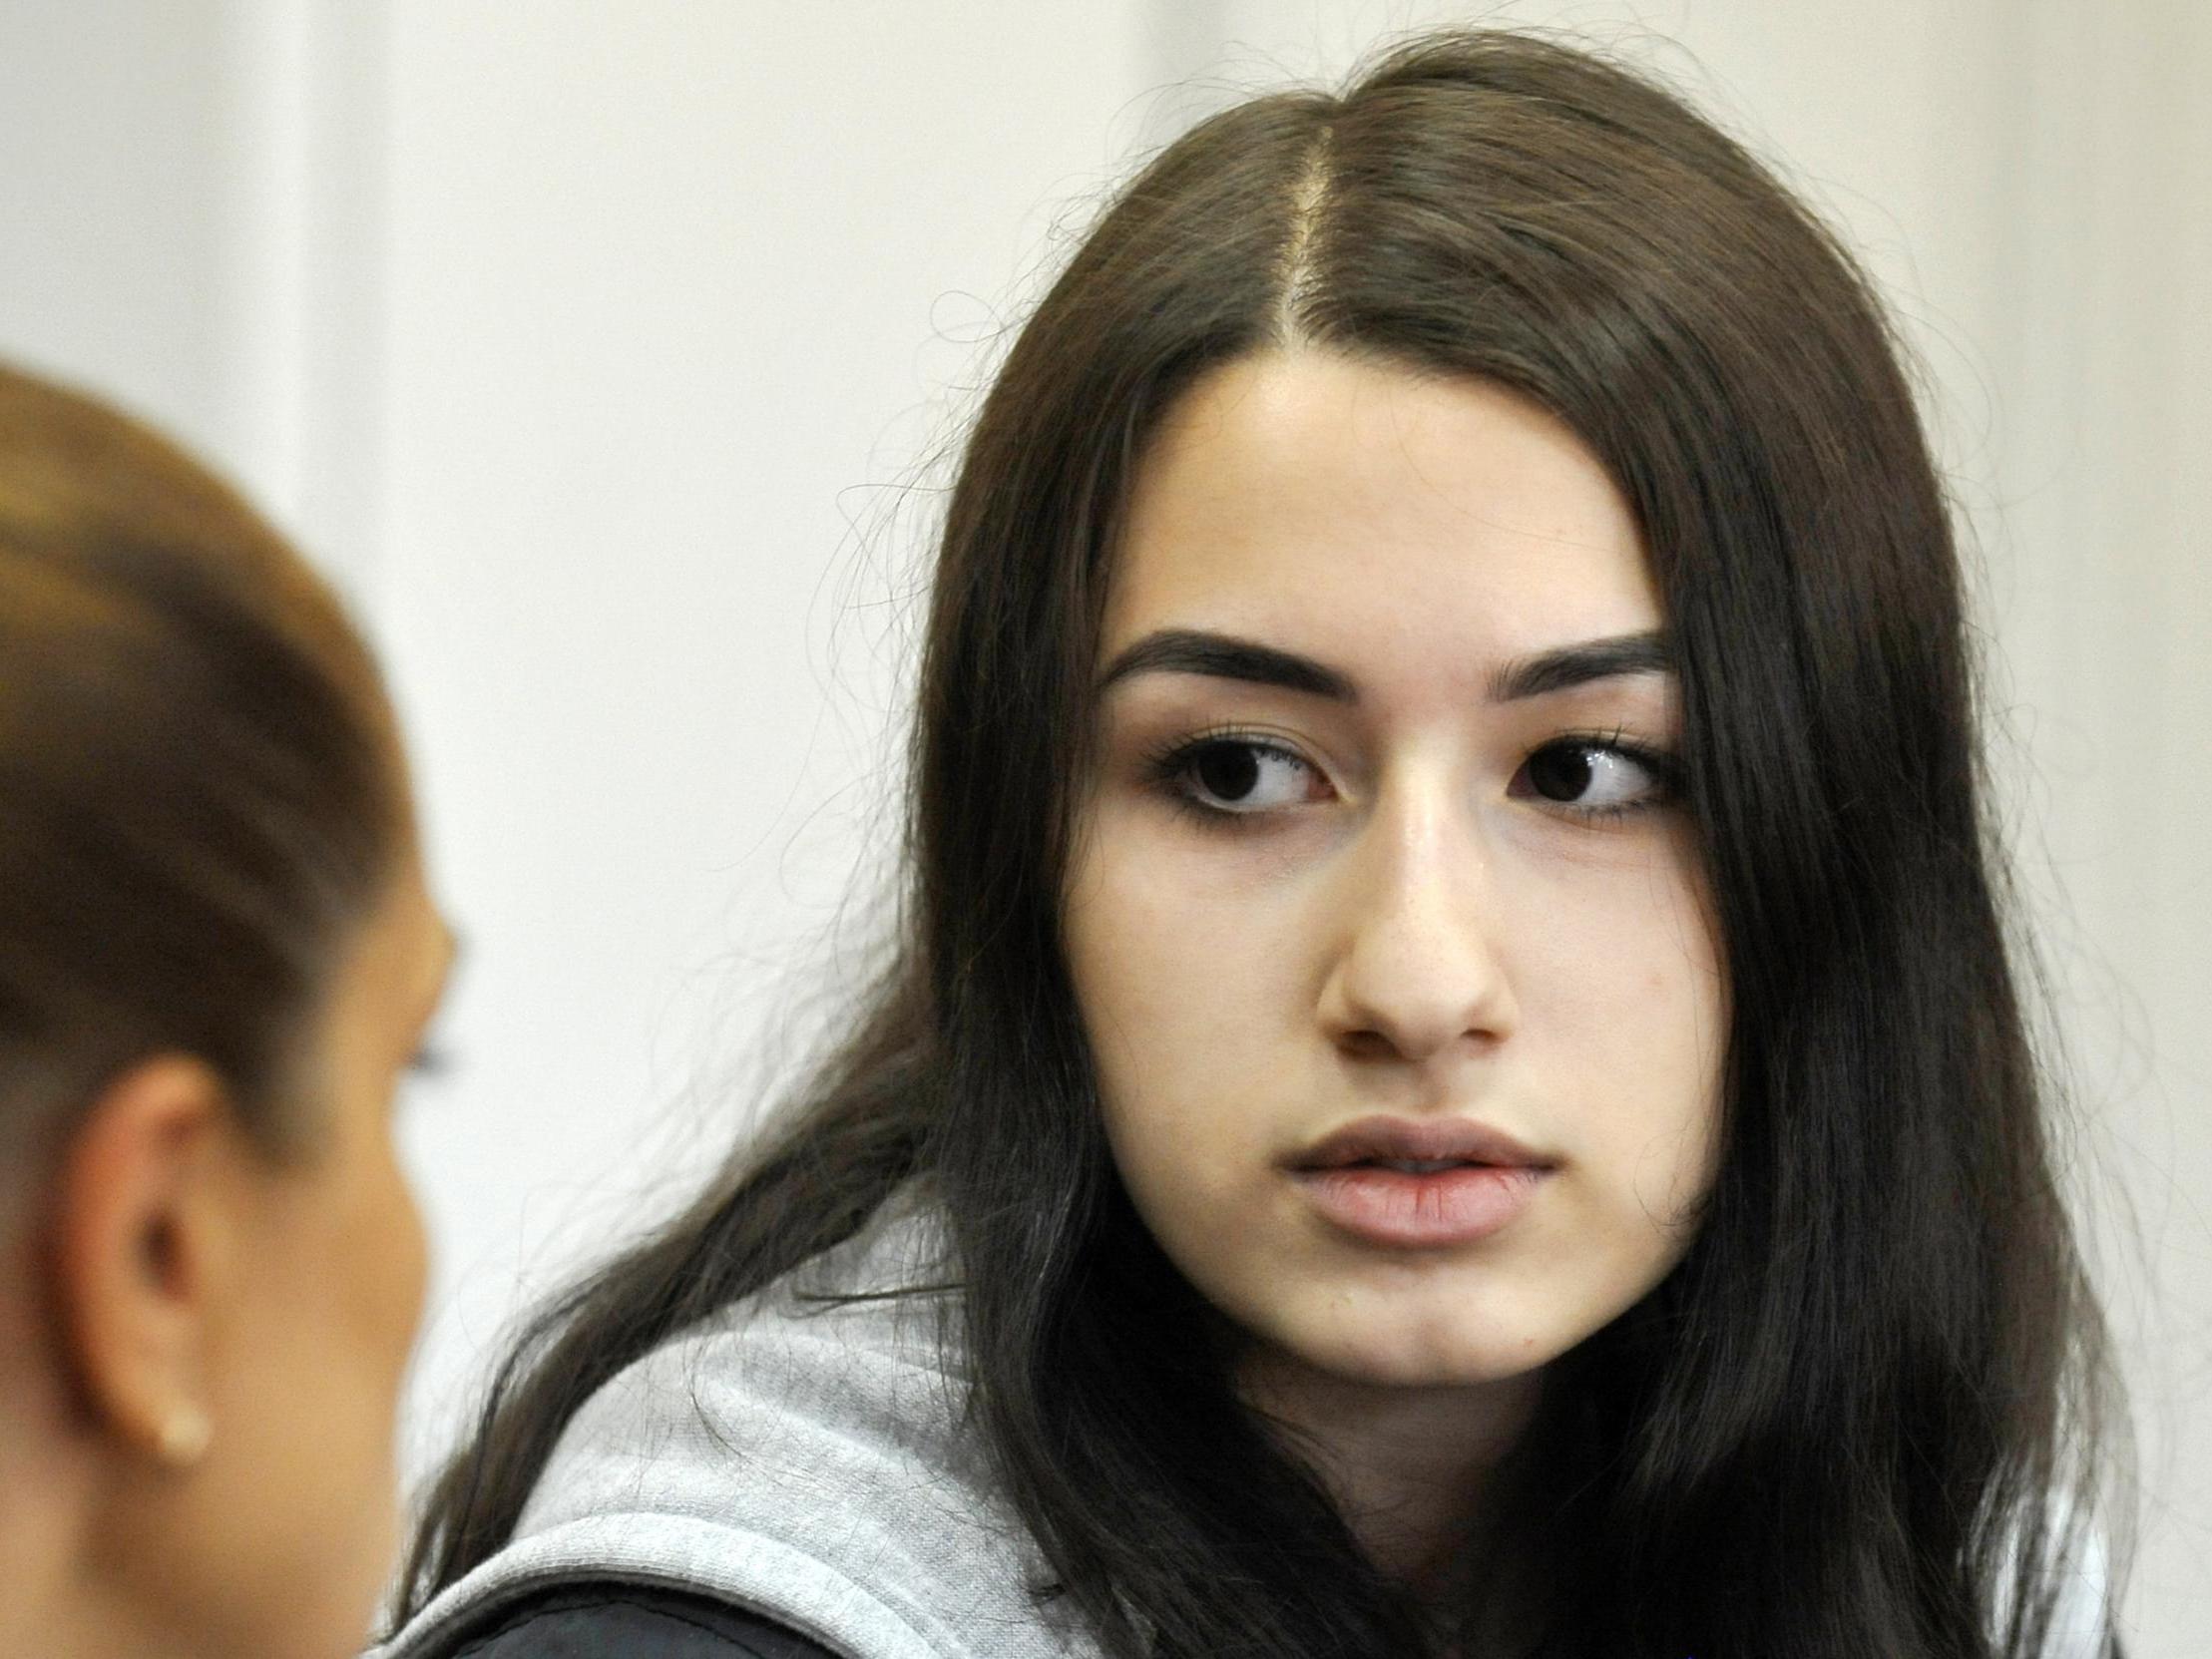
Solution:
{"label": "young woman with long loose dark hair and gray hoodie", "polygon": [[1170,146],[911,779],[849,1046],[509,1360],[392,1655],[2108,1650],[1944,498],[1674,97],[1447,35]]}

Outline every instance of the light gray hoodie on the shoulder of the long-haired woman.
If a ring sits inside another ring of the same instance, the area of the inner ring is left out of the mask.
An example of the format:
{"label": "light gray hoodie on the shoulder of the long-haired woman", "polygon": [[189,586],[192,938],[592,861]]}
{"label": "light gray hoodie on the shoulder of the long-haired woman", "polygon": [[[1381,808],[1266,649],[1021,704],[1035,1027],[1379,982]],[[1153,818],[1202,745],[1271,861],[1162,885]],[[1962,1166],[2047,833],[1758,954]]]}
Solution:
{"label": "light gray hoodie on the shoulder of the long-haired woman", "polygon": [[[568,1422],[515,1537],[374,1659],[560,1579],[723,1597],[849,1659],[1093,1659],[962,1425],[938,1228],[856,1239],[664,1343]],[[878,1301],[818,1301],[925,1287]]]}

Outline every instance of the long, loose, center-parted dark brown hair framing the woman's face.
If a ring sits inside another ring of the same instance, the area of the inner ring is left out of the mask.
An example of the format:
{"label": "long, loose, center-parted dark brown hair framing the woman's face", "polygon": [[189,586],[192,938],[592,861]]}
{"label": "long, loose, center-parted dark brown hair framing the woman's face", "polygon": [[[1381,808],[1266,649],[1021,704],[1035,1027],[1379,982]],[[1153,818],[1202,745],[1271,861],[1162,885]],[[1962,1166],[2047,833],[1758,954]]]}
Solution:
{"label": "long, loose, center-parted dark brown hair framing the woman's face", "polygon": [[1115,1655],[1427,1637],[1245,1413],[1108,1157],[1060,945],[1133,469],[1201,372],[1327,349],[1562,418],[1681,661],[1732,984],[1725,1157],[1674,1274],[1559,1367],[1520,1533],[1577,1659],[2024,1659],[2093,1515],[2104,1358],[1993,898],[1947,502],[1834,237],[1637,73],[1431,35],[1217,115],[1113,204],[975,420],[914,732],[905,929],[852,1042],[690,1214],[560,1298],[438,1482],[407,1606],[562,1425],[914,1175],[973,1422]]}

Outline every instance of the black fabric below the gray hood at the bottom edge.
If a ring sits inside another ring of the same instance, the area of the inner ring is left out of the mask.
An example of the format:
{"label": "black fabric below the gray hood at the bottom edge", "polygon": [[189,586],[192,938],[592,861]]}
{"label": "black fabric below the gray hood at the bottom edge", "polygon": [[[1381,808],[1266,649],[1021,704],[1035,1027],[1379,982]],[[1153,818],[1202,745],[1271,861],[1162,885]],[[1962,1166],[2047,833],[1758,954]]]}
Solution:
{"label": "black fabric below the gray hood at the bottom edge", "polygon": [[796,1630],[666,1586],[557,1584],[469,1630],[451,1659],[836,1659]]}

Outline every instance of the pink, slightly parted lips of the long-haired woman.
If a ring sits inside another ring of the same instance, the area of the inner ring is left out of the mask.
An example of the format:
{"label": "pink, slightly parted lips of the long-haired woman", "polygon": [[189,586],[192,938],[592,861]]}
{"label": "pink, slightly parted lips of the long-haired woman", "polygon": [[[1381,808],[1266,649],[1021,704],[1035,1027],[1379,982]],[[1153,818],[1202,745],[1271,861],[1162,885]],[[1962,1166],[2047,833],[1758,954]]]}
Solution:
{"label": "pink, slightly parted lips of the long-haired woman", "polygon": [[[1389,1170],[1376,1159],[1458,1168]],[[1553,1170],[1511,1135],[1453,1117],[1363,1117],[1287,1166],[1325,1221],[1394,1250],[1486,1239],[1528,1208]]]}

